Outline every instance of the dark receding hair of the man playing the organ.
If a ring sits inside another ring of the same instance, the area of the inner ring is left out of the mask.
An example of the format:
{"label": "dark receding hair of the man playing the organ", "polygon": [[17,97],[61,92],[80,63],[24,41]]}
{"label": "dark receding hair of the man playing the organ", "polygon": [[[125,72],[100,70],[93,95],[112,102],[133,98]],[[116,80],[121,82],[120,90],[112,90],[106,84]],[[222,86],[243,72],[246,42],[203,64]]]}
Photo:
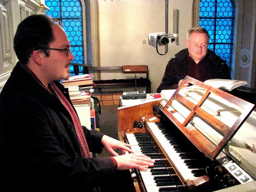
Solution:
{"label": "dark receding hair of the man playing the organ", "polygon": [[54,40],[52,25],[60,26],[58,20],[46,15],[31,15],[18,25],[14,36],[14,51],[18,60],[26,65],[34,50],[42,49],[46,56],[50,42]]}

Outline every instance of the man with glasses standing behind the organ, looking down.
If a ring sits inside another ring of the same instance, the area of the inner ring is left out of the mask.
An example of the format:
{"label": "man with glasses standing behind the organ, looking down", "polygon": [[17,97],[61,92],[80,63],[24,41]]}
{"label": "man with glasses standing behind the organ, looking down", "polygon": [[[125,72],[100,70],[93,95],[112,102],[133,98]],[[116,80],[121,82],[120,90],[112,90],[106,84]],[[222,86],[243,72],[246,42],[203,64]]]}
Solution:
{"label": "man with glasses standing behind the organ, looking down", "polygon": [[178,88],[185,76],[202,82],[215,78],[231,79],[226,61],[208,50],[209,38],[208,32],[202,27],[188,30],[187,48],[175,54],[175,58],[168,62],[156,92]]}

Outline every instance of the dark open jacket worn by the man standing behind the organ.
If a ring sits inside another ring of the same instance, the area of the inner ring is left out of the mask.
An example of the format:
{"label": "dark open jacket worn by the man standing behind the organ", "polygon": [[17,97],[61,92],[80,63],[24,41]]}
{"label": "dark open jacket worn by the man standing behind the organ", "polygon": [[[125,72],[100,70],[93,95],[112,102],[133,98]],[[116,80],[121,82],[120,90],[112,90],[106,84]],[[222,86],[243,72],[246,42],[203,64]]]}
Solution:
{"label": "dark open jacket worn by the man standing behind the organ", "polygon": [[[162,82],[157,88],[156,92],[160,93],[162,90],[176,89],[178,82],[185,78],[187,75],[187,59],[188,49],[183,49],[172,58],[165,69]],[[225,60],[222,60],[211,50],[207,51],[205,56],[206,60],[210,63],[212,79],[231,79],[230,71]]]}

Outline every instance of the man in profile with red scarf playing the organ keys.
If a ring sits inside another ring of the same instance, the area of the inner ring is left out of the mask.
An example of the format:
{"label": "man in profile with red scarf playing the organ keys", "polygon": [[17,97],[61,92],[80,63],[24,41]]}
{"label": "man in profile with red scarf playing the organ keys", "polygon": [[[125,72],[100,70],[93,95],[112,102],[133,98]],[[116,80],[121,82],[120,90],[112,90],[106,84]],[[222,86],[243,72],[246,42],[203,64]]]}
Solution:
{"label": "man in profile with red scarf playing the organ keys", "polygon": [[[59,82],[70,75],[74,56],[57,21],[46,15],[24,19],[14,50],[19,62],[0,93],[0,188],[133,192],[130,169],[146,171],[154,160],[81,126]],[[103,147],[111,157],[90,156]]]}

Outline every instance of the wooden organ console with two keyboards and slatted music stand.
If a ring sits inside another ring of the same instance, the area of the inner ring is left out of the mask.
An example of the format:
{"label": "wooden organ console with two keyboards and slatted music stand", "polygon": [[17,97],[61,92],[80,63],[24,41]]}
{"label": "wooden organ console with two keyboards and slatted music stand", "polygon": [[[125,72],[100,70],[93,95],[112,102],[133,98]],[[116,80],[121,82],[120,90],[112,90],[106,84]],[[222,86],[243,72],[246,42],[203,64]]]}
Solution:
{"label": "wooden organ console with two keyboards and slatted music stand", "polygon": [[254,109],[189,76],[169,100],[118,108],[119,139],[156,161],[130,170],[136,192],[255,190]]}

